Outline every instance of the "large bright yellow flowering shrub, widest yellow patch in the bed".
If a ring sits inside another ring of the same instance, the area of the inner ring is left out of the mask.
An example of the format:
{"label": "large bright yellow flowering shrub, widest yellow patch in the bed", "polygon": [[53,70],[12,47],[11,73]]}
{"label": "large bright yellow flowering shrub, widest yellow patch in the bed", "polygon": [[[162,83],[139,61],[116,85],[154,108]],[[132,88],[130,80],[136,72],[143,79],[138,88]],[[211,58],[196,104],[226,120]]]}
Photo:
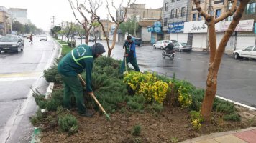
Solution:
{"label": "large bright yellow flowering shrub, widest yellow patch in the bed", "polygon": [[[125,75],[124,82],[126,82],[136,94],[142,94],[148,102],[163,103],[166,93],[168,92],[168,84],[157,80],[155,75],[151,73],[142,74],[132,71]],[[169,84],[171,84],[171,82]]]}

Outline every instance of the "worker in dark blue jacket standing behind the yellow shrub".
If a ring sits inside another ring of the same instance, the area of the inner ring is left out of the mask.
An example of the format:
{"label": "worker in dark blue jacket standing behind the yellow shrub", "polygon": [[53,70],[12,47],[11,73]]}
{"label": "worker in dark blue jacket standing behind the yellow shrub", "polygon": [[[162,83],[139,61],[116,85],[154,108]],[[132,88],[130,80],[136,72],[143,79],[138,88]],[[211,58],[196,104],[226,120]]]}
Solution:
{"label": "worker in dark blue jacket standing behind the yellow shrub", "polygon": [[122,61],[121,69],[120,69],[119,73],[120,74],[124,73],[125,66],[127,66],[125,64],[128,64],[128,63],[132,64],[135,71],[140,71],[140,68],[137,64],[135,43],[134,43],[134,41],[132,41],[132,36],[129,36],[129,35],[127,36],[127,40],[124,41],[123,48],[125,49],[124,60]]}

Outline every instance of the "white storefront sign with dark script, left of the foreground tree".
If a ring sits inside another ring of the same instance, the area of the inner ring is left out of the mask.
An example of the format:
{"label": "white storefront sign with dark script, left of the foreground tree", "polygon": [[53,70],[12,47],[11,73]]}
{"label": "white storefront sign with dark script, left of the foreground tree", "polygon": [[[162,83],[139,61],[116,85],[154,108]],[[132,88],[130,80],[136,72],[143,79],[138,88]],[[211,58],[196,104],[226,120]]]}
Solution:
{"label": "white storefront sign with dark script, left of the foreground tree", "polygon": [[202,21],[191,21],[184,23],[184,33],[206,33],[207,25]]}

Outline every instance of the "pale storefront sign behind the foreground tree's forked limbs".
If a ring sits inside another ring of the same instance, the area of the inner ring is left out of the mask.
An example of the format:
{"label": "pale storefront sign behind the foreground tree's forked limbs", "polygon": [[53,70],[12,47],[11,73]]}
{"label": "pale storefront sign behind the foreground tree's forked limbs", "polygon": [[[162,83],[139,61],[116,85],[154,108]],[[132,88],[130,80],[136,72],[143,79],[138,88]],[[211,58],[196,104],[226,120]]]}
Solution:
{"label": "pale storefront sign behind the foreground tree's forked limbs", "polygon": [[[231,21],[224,21],[221,23],[221,31],[227,31]],[[254,20],[241,20],[234,31],[252,31]]]}

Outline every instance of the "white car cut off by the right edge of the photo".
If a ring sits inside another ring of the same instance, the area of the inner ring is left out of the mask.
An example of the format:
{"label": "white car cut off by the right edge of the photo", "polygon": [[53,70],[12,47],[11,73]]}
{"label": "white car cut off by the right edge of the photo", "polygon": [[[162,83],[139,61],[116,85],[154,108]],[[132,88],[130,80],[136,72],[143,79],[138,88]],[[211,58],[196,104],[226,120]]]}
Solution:
{"label": "white car cut off by the right edge of the photo", "polygon": [[233,51],[234,59],[244,58],[254,58],[256,59],[256,46],[248,46],[244,49],[238,49]]}

